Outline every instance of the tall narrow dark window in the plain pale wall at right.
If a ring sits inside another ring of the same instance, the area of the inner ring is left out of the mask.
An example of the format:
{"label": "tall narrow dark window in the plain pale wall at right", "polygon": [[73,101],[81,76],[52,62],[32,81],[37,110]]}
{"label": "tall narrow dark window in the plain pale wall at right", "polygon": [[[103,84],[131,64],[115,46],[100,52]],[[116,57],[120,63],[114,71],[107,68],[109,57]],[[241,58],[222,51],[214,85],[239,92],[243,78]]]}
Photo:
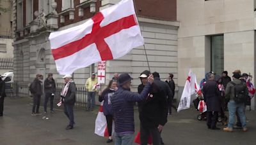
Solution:
{"label": "tall narrow dark window in the plain pale wall at right", "polygon": [[223,35],[211,36],[211,71],[221,74],[224,70]]}

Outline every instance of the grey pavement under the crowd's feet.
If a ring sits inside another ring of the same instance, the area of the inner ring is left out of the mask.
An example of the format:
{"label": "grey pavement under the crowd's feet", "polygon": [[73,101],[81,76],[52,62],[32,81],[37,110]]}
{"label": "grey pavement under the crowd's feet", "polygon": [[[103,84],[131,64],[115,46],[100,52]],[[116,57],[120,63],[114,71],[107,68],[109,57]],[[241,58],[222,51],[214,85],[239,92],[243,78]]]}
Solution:
{"label": "grey pavement under the crowd's feet", "polygon": [[[106,138],[94,134],[95,118],[98,113],[96,109],[95,111],[75,111],[76,126],[73,130],[65,130],[68,120],[63,111],[57,110],[54,114],[31,116],[31,98],[6,98],[4,101],[4,116],[0,117],[0,145],[107,144]],[[40,111],[43,112],[42,107]],[[243,132],[241,129],[235,129],[234,132],[209,130],[205,121],[196,120],[197,114],[198,111],[191,106],[191,109],[168,116],[168,123],[162,132],[164,144],[256,144],[255,111],[246,111],[246,117],[250,120],[248,132]],[[134,120],[137,133],[139,119],[136,108]],[[218,123],[218,127],[224,126]]]}

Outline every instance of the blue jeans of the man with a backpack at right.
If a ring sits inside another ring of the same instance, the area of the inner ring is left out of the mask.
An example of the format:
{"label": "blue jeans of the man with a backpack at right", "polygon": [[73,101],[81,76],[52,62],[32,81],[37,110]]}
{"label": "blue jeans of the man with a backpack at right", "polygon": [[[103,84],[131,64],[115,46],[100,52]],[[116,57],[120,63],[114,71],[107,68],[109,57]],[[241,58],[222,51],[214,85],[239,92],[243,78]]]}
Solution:
{"label": "blue jeans of the man with a backpack at right", "polygon": [[228,102],[228,113],[229,113],[228,127],[232,128],[234,125],[236,110],[241,120],[242,127],[246,127],[246,120],[244,115],[244,103],[237,104],[234,100],[230,100]]}

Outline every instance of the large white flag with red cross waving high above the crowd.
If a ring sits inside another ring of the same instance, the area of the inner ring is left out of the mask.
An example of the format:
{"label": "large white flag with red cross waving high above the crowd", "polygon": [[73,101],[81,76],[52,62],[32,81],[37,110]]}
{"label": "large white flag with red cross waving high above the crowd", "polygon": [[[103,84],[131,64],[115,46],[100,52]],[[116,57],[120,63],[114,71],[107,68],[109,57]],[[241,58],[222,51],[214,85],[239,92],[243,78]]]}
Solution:
{"label": "large white flag with red cross waving high above the crowd", "polygon": [[102,60],[117,59],[144,44],[132,0],[106,8],[87,22],[49,36],[60,74]]}

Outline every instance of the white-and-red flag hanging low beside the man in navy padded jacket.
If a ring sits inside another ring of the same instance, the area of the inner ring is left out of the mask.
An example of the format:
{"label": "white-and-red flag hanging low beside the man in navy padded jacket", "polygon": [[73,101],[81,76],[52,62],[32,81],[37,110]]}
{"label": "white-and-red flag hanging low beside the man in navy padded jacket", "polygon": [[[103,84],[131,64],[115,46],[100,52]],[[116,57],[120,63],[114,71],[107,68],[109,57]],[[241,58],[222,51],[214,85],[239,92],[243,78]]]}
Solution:
{"label": "white-and-red flag hanging low beside the man in navy padded jacket", "polygon": [[[102,137],[108,137],[108,126],[107,126],[107,120],[106,116],[103,114],[103,102],[100,104],[99,113],[97,115],[97,118],[95,120],[95,130],[94,133],[97,135],[100,135]],[[114,123],[112,123],[112,135],[114,134]]]}

